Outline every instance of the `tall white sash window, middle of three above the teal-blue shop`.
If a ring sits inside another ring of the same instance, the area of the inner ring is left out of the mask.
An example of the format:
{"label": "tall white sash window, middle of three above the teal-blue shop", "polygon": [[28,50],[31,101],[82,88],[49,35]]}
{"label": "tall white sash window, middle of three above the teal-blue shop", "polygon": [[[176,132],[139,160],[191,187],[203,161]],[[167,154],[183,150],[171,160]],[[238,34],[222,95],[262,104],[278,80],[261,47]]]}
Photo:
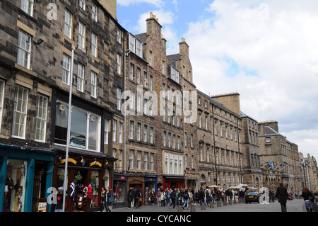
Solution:
{"label": "tall white sash window, middle of three above the teal-blue shop", "polygon": [[28,89],[25,89],[21,86],[16,86],[16,94],[14,96],[14,110],[13,110],[13,128],[12,128],[13,137],[24,139],[27,111],[28,111]]}

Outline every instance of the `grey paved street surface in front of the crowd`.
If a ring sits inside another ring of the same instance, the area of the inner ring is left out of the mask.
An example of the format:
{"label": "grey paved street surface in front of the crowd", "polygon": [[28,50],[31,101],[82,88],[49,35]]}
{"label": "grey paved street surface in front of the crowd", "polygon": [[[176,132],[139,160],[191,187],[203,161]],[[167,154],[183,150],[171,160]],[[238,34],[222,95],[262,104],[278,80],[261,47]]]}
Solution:
{"label": "grey paved street surface in front of the crowd", "polygon": [[[201,210],[201,206],[199,203],[196,203],[195,205],[196,212],[281,212],[281,204],[278,203],[276,200],[275,203],[269,203],[269,204],[260,204],[260,203],[237,203],[232,205],[226,205],[224,206],[223,203],[221,204],[221,207],[217,207],[217,204],[214,204],[214,208],[209,208],[206,206],[206,210]],[[177,206],[175,209],[173,208],[163,208],[155,206],[141,206],[141,208],[118,208],[112,210],[112,212],[170,212],[170,213],[177,213]],[[190,207],[189,210],[187,208],[184,208],[184,213],[190,213]],[[302,199],[295,199],[295,200],[288,200],[287,202],[287,212],[306,212],[305,210],[305,203]]]}

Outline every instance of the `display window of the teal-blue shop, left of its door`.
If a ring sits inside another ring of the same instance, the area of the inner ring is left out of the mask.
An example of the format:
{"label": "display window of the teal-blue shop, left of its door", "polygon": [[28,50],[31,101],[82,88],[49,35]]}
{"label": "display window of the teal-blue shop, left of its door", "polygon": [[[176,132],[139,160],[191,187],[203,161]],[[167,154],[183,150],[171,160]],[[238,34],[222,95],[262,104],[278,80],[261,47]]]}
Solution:
{"label": "display window of the teal-blue shop, left of its door", "polygon": [[6,165],[6,183],[4,186],[4,211],[23,212],[25,200],[25,181],[27,162],[8,159]]}

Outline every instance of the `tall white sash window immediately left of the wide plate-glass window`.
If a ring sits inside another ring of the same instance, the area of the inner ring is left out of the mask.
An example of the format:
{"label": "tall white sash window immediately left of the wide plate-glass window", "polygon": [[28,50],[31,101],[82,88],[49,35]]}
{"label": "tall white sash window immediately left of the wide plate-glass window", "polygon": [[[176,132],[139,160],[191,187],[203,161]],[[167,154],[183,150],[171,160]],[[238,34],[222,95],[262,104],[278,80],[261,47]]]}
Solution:
{"label": "tall white sash window immediately left of the wide plate-glass window", "polygon": [[37,115],[35,124],[35,141],[45,142],[47,128],[47,97],[37,95]]}

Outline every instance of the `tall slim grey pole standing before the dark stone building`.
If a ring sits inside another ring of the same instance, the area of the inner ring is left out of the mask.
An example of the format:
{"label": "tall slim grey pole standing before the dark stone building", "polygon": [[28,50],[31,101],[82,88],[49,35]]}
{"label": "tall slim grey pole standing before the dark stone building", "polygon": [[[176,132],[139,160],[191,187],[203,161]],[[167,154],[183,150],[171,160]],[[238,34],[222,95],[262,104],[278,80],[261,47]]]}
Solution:
{"label": "tall slim grey pole standing before the dark stone building", "polygon": [[63,191],[63,212],[65,212],[66,188],[67,188],[67,166],[69,163],[69,142],[71,137],[71,106],[72,106],[72,87],[73,87],[73,63],[74,63],[74,50],[72,50],[71,59],[71,73],[69,75],[69,118],[67,120],[67,140],[66,140],[66,153],[65,153],[65,169],[64,169],[64,191]]}

